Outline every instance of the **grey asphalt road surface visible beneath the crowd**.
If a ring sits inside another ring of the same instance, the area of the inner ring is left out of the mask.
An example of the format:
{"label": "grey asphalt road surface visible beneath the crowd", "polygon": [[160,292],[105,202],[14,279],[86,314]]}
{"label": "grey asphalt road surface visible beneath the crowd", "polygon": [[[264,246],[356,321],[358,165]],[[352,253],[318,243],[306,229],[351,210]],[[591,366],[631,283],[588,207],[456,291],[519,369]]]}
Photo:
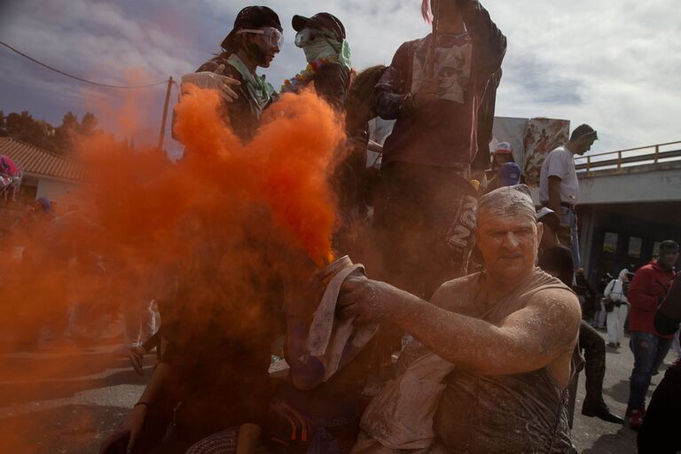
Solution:
{"label": "grey asphalt road surface visible beneath the crowd", "polygon": [[[127,358],[112,355],[114,347],[3,355],[0,453],[97,452],[99,442],[114,430],[145,386],[145,379],[132,371]],[[670,353],[667,361],[671,358]],[[152,360],[147,356],[147,376]],[[607,352],[606,401],[619,414],[626,407],[632,364],[629,348]],[[661,376],[654,377],[654,384]],[[636,434],[627,427],[583,417],[582,400],[580,380],[573,429],[578,450],[583,454],[634,454]]]}

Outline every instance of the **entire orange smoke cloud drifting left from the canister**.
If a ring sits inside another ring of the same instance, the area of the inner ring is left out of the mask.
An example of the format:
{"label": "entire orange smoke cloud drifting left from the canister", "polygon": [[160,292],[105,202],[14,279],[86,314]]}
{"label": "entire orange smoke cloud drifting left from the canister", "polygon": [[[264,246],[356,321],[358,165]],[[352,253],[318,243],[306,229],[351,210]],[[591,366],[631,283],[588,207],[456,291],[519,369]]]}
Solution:
{"label": "entire orange smoke cloud drifting left from the canister", "polygon": [[[3,282],[5,333],[33,342],[49,325],[57,336],[96,338],[103,315],[171,299],[179,275],[188,283],[188,320],[253,337],[271,334],[262,321],[271,316],[244,301],[278,295],[268,281],[281,266],[273,248],[286,249],[286,257],[293,251],[298,277],[313,271],[301,256],[317,266],[331,260],[336,212],[329,175],[340,158],[343,125],[313,93],[289,94],[243,145],[225,128],[219,103],[215,93],[197,89],[176,107],[176,136],[185,145],[178,162],[107,135],[79,142],[88,184],[59,200],[57,219],[35,221],[6,239],[24,247],[24,260]],[[71,204],[78,208],[67,209]],[[253,279],[259,275],[262,280]],[[223,319],[215,321],[215,314]],[[41,369],[6,362],[0,369],[12,380],[42,380],[82,370],[78,361],[65,357]],[[14,387],[0,383],[0,407],[15,396]],[[41,426],[40,416],[33,420]],[[0,447],[36,451],[29,433],[0,424]]]}

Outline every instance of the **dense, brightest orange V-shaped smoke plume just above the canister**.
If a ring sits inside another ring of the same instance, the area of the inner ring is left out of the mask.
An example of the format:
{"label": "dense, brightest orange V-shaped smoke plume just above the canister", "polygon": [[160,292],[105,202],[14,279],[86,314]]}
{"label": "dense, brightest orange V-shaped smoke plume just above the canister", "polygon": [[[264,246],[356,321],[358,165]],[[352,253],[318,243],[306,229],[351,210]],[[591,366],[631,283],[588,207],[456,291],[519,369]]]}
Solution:
{"label": "dense, brightest orange V-shaped smoke plume just above the canister", "polygon": [[265,112],[254,140],[241,145],[216,118],[218,103],[215,93],[197,90],[177,107],[175,130],[189,156],[218,153],[222,165],[208,169],[213,177],[230,179],[224,184],[231,191],[266,203],[317,265],[330,261],[336,213],[328,175],[344,137],[336,115],[310,91],[285,94]]}

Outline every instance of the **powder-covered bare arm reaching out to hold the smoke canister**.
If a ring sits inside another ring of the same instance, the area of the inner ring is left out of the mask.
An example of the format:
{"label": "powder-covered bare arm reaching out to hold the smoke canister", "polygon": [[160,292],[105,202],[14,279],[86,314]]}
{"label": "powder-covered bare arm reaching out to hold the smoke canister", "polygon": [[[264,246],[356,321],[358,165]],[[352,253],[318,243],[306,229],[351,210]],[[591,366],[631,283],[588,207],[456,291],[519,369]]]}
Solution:
{"label": "powder-covered bare arm reaching out to hold the smoke canister", "polygon": [[581,311],[574,294],[546,289],[499,325],[467,317],[367,278],[346,281],[342,317],[356,323],[389,321],[458,367],[485,375],[530,372],[575,346]]}

